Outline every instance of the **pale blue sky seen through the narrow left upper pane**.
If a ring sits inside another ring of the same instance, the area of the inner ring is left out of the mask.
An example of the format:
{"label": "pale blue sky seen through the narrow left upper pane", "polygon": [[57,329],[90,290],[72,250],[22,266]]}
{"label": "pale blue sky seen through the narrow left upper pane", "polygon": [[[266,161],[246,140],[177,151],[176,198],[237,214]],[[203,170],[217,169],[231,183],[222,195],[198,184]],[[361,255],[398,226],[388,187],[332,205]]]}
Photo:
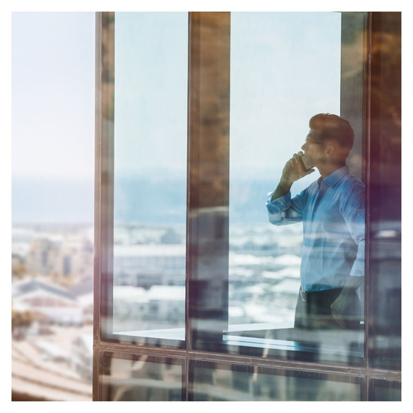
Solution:
{"label": "pale blue sky seen through the narrow left upper pane", "polygon": [[115,174],[186,178],[188,13],[115,15]]}

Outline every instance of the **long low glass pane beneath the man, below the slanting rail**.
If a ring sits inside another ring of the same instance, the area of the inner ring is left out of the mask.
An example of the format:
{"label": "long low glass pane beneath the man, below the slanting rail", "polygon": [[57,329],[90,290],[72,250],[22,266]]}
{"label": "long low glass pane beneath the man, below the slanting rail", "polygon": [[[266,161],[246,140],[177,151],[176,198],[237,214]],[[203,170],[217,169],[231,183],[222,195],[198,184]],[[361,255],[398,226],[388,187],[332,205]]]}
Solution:
{"label": "long low glass pane beneath the man, below the slanting rail", "polygon": [[333,374],[195,362],[194,401],[360,401],[361,380]]}

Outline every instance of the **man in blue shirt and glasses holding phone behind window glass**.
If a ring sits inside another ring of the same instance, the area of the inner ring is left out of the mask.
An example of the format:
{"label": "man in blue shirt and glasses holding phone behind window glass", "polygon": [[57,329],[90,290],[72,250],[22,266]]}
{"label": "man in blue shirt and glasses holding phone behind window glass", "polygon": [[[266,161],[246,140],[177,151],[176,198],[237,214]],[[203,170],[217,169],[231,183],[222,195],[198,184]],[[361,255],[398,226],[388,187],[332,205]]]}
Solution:
{"label": "man in blue shirt and glasses holding phone behind window glass", "polygon": [[[304,153],[286,162],[277,189],[268,194],[268,216],[275,225],[303,222],[295,328],[357,329],[357,288],[364,279],[365,186],[346,165],[354,132],[347,120],[332,114],[317,114],[309,125]],[[320,178],[291,199],[293,182],[314,168]]]}

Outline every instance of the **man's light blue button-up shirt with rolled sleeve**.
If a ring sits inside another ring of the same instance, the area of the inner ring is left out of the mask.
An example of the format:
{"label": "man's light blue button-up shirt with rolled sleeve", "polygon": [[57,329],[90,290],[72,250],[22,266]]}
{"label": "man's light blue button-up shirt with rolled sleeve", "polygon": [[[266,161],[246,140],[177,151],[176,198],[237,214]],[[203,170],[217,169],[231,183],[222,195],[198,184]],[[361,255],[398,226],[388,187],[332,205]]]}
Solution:
{"label": "man's light blue button-up shirt with rolled sleeve", "polygon": [[348,165],[310,184],[291,199],[288,192],[266,207],[271,224],[303,222],[301,289],[342,287],[349,275],[363,277],[365,185]]}

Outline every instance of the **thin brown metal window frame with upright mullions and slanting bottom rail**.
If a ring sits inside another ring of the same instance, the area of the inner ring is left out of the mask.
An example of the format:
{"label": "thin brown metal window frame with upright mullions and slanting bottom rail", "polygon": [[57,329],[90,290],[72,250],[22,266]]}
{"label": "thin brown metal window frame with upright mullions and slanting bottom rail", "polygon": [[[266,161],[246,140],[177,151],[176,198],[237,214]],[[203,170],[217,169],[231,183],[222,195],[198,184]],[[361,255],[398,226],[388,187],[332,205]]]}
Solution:
{"label": "thin brown metal window frame with upright mullions and slanting bottom rail", "polygon": [[[193,176],[193,150],[196,149],[196,145],[199,145],[198,138],[195,136],[194,126],[194,114],[199,114],[199,107],[197,107],[198,100],[193,99],[193,85],[197,81],[196,71],[194,68],[197,62],[193,60],[194,47],[197,46],[196,42],[196,21],[200,19],[202,13],[190,13],[189,14],[189,99],[188,99],[188,113],[189,113],[189,147],[188,147],[188,193],[194,188],[195,178]],[[218,13],[217,13],[218,14]],[[380,116],[380,114],[374,113],[371,108],[371,92],[370,92],[370,82],[371,82],[371,72],[372,67],[374,70],[374,65],[376,64],[371,59],[370,50],[372,48],[372,42],[374,41],[374,16],[375,13],[368,14],[368,30],[366,38],[366,47],[368,47],[368,65],[366,67],[366,72],[363,74],[363,78],[359,78],[357,81],[363,82],[366,90],[366,100],[364,105],[366,106],[366,124],[362,125],[362,129],[366,131],[366,148],[365,156],[367,159],[366,167],[363,169],[363,176],[366,176],[366,192],[367,204],[366,211],[370,211],[370,194],[372,189],[370,187],[370,180],[372,179],[372,174],[377,174],[377,171],[371,170],[371,165],[374,162],[374,153],[372,154],[370,148],[373,145],[372,140],[372,126],[371,119],[374,116]],[[113,104],[108,105],[108,99],[111,99],[111,93],[113,93],[111,84],[114,81],[114,73],[107,70],[105,67],[105,56],[109,53],[113,53],[113,50],[103,50],[102,49],[102,39],[103,36],[113,36],[111,28],[106,27],[103,30],[105,24],[109,24],[111,19],[113,19],[114,13],[105,12],[96,13],[96,164],[95,164],[95,258],[94,258],[94,374],[93,374],[93,399],[95,401],[102,399],[101,388],[100,388],[100,374],[103,369],[103,355],[107,352],[120,352],[123,354],[149,354],[151,356],[162,356],[169,357],[172,359],[179,359],[182,361],[182,366],[184,368],[183,385],[185,388],[184,400],[188,400],[188,394],[191,387],[191,377],[190,377],[190,367],[195,361],[219,361],[227,364],[240,364],[240,365],[250,365],[257,366],[259,368],[278,368],[291,371],[301,371],[305,370],[308,372],[319,372],[323,374],[339,374],[340,376],[345,376],[350,378],[350,380],[361,380],[361,398],[362,400],[368,400],[368,394],[370,394],[369,383],[372,379],[387,380],[392,383],[401,382],[401,372],[398,368],[373,368],[367,363],[365,366],[354,367],[354,366],[340,366],[330,365],[328,363],[309,363],[305,361],[288,361],[285,359],[275,359],[275,358],[262,358],[254,357],[253,355],[239,355],[239,354],[225,354],[223,352],[215,351],[205,351],[204,348],[194,348],[191,328],[192,317],[191,312],[193,311],[193,306],[197,306],[196,302],[189,300],[192,291],[189,288],[193,281],[193,260],[195,254],[191,251],[191,230],[193,228],[193,221],[191,216],[187,218],[187,246],[189,247],[187,255],[187,299],[186,299],[186,346],[182,348],[177,348],[176,346],[165,346],[154,345],[153,343],[143,343],[131,342],[128,338],[123,340],[123,337],[106,337],[105,331],[107,331],[108,313],[107,307],[103,304],[109,297],[105,296],[105,293],[112,288],[108,288],[110,282],[112,282],[111,271],[112,271],[112,246],[113,246],[113,222],[109,222],[108,216],[111,215],[113,207],[113,173],[109,173],[110,170],[113,171],[113,112],[103,113],[105,110],[110,108],[113,110]],[[113,26],[112,26],[113,27]],[[107,62],[107,60],[106,60]],[[383,62],[381,63],[384,64]],[[199,80],[199,79],[198,79]],[[111,118],[112,113],[112,118]],[[112,120],[112,123],[111,123]],[[377,127],[376,127],[377,129]],[[198,132],[196,132],[198,133]],[[111,137],[112,136],[112,146]],[[195,140],[194,140],[195,139]],[[198,142],[198,144],[197,144]],[[194,146],[195,145],[195,146]],[[199,147],[198,147],[199,149]],[[197,149],[197,150],[198,150]],[[111,156],[112,153],[112,156]],[[363,156],[364,158],[364,156]],[[377,159],[376,159],[377,161]],[[377,162],[376,164],[377,165]],[[112,169],[111,169],[112,168]],[[112,201],[111,201],[112,200]],[[112,207],[111,207],[112,202]],[[191,211],[194,207],[193,199],[189,196],[188,198],[188,210]],[[201,204],[196,204],[195,206],[202,207]],[[213,205],[207,205],[207,207],[213,207]],[[112,211],[113,213],[113,211]],[[189,215],[189,214],[188,214]],[[367,214],[366,222],[366,233],[367,235],[367,245],[366,246],[366,304],[365,304],[365,359],[369,360],[370,346],[369,346],[369,328],[372,324],[372,319],[374,315],[370,313],[369,301],[371,297],[370,283],[370,260],[372,254],[372,246],[370,245],[370,214]],[[225,217],[225,211],[224,215]],[[112,242],[111,242],[112,241]],[[220,315],[223,317],[224,315]],[[224,326],[224,325],[222,325]],[[110,330],[109,330],[110,331]],[[397,384],[396,384],[397,386]]]}

